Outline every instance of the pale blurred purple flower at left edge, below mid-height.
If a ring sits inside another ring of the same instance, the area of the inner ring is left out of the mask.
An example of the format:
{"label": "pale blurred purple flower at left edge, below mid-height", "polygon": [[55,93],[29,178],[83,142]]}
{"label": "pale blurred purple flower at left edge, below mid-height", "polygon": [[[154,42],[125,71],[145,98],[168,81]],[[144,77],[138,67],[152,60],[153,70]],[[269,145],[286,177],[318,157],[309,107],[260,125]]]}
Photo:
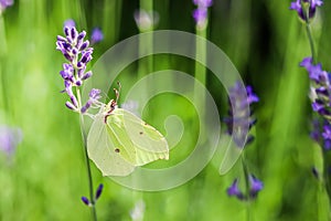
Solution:
{"label": "pale blurred purple flower at left edge, below mid-height", "polygon": [[22,141],[22,137],[20,128],[0,126],[0,150],[8,157],[12,156],[17,146]]}

